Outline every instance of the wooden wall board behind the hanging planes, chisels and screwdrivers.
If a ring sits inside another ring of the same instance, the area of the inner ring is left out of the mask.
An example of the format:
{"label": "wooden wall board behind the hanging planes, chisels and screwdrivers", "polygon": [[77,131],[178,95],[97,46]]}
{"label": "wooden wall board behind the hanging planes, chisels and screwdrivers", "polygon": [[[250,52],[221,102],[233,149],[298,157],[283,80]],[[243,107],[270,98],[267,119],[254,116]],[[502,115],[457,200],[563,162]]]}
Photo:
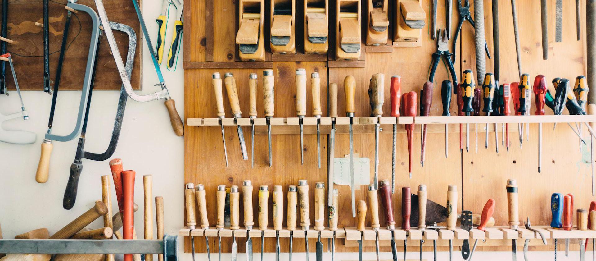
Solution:
{"label": "wooden wall board behind the hanging planes, chisels and screwdrivers", "polygon": [[[430,39],[429,18],[430,2],[423,0],[423,8],[426,11],[426,26],[421,37],[421,46],[414,48],[396,47],[386,48],[385,51],[374,52],[375,48],[364,47],[365,35],[362,35],[362,56],[361,61],[338,64],[337,61],[310,61],[320,60],[317,57],[300,55],[303,41],[302,26],[297,26],[297,53],[298,55],[287,56],[287,58],[271,55],[268,52],[266,61],[260,63],[237,61],[237,46],[234,43],[237,30],[237,1],[224,0],[192,0],[187,2],[185,8],[185,33],[184,33],[184,67],[185,67],[185,119],[190,118],[215,118],[215,98],[211,86],[211,74],[213,72],[232,72],[237,80],[240,105],[244,117],[248,117],[249,110],[249,88],[247,79],[249,73],[259,75],[259,89],[257,94],[262,93],[262,70],[272,68],[275,72],[275,117],[296,117],[294,70],[305,68],[307,73],[318,72],[321,76],[321,97],[327,97],[328,83],[339,85],[340,116],[345,108],[343,79],[346,75],[353,75],[356,78],[356,117],[369,116],[370,105],[368,102],[368,81],[372,74],[385,74],[385,101],[383,105],[384,116],[389,116],[389,80],[393,74],[402,76],[402,94],[408,91],[419,91],[423,83],[428,79],[432,53],[436,51],[436,41]],[[362,1],[362,12],[366,15],[366,1]],[[389,1],[395,5],[395,1]],[[459,21],[458,9],[453,7],[452,35]],[[471,13],[473,13],[473,2],[470,1]],[[485,34],[491,54],[493,53],[492,38],[492,5],[485,4]],[[297,0],[298,7],[302,7],[302,0]],[[330,0],[330,7],[335,4]],[[514,43],[513,20],[511,13],[511,2],[499,0],[499,29],[501,44],[501,83],[519,81],[516,63],[516,49]],[[268,10],[269,1],[265,1],[265,10]],[[549,59],[542,60],[541,30],[540,30],[540,3],[539,1],[518,1],[517,13],[519,17],[520,43],[522,49],[522,70],[533,77],[537,74],[544,74],[549,83],[548,88],[554,91],[550,80],[554,77],[564,77],[575,81],[575,77],[585,74],[586,51],[585,51],[585,1],[582,1],[582,40],[576,41],[575,29],[575,5],[572,2],[565,2],[563,6],[563,42],[554,41],[554,7],[555,0],[548,0],[548,38],[549,38]],[[297,8],[300,10],[300,8]],[[393,7],[390,7],[393,10]],[[334,21],[334,8],[331,8],[330,24]],[[297,24],[302,24],[302,18],[297,15]],[[363,22],[365,24],[365,22]],[[392,23],[390,23],[392,24]],[[445,27],[445,4],[439,1],[437,10],[437,28]],[[212,27],[210,25],[213,25]],[[265,19],[265,35],[268,39],[268,18]],[[390,26],[391,29],[392,26]],[[330,28],[329,32],[334,32]],[[363,29],[364,33],[365,30]],[[335,35],[330,33],[330,50],[334,43]],[[461,35],[456,43],[455,50],[452,49],[452,41],[449,41],[451,52],[457,52],[455,59],[455,70],[458,79],[465,69],[474,70],[476,76],[474,31],[470,23],[465,21],[462,26]],[[266,44],[266,46],[268,46]],[[272,61],[273,60],[273,61]],[[287,60],[287,61],[284,61]],[[332,53],[328,60],[334,60]],[[364,64],[364,66],[363,66]],[[443,64],[442,62],[440,64]],[[486,72],[493,71],[493,60],[486,60]],[[336,67],[356,66],[356,67]],[[589,76],[588,76],[589,77]],[[445,66],[440,65],[434,77],[434,94],[431,116],[440,116],[442,106],[440,103],[440,83],[448,78]],[[479,80],[476,79],[476,83]],[[591,86],[595,87],[595,86]],[[595,87],[596,88],[596,87]],[[225,96],[225,95],[224,95]],[[257,96],[260,97],[260,96]],[[306,117],[312,117],[312,104],[310,98],[310,86],[308,86],[308,113]],[[532,95],[533,97],[533,95]],[[228,101],[225,100],[227,117],[231,117],[227,108]],[[327,102],[323,98],[322,109],[324,117],[327,116]],[[533,100],[533,98],[532,98]],[[512,110],[513,110],[513,105]],[[532,101],[531,113],[535,111]],[[257,99],[258,117],[263,116],[263,101]],[[546,109],[547,114],[552,114]],[[452,115],[457,115],[455,97],[451,103]],[[564,112],[563,114],[567,114]],[[443,125],[429,125],[427,136],[427,152],[424,167],[418,164],[420,157],[420,125],[415,128],[414,135],[414,167],[412,178],[408,178],[408,151],[406,135],[403,133],[403,126],[399,127],[398,134],[398,163],[396,166],[396,188],[409,186],[415,191],[418,184],[426,184],[429,190],[429,200],[445,204],[448,185],[458,186],[458,195],[461,201],[458,204],[458,213],[464,210],[471,210],[473,213],[482,212],[486,200],[496,200],[496,211],[494,217],[496,225],[507,225],[507,197],[505,185],[507,179],[517,179],[520,196],[520,219],[530,217],[533,225],[548,225],[551,219],[550,195],[552,192],[573,193],[575,195],[576,208],[588,208],[589,202],[594,200],[591,194],[590,176],[590,154],[589,146],[583,145],[580,152],[578,137],[565,123],[557,125],[552,130],[551,124],[544,124],[543,142],[543,163],[542,173],[537,172],[538,167],[538,126],[530,126],[530,138],[524,136],[523,147],[520,148],[517,136],[516,124],[510,124],[509,142],[510,150],[499,147],[499,153],[495,153],[494,133],[489,133],[489,148],[484,148],[484,126],[479,125],[478,153],[476,153],[476,142],[474,141],[474,129],[470,126],[470,151],[460,154],[458,147],[458,126],[449,126],[449,157],[445,157],[445,144],[443,141]],[[465,126],[464,126],[465,128]],[[492,130],[492,126],[489,127]],[[275,128],[274,128],[275,129]],[[585,128],[584,133],[587,133]],[[499,142],[501,142],[501,125],[498,126]],[[465,129],[464,129],[465,131]],[[213,209],[215,203],[215,191],[219,184],[226,187],[231,185],[242,185],[245,179],[251,179],[254,186],[283,185],[284,200],[288,185],[296,185],[299,179],[308,179],[309,185],[313,188],[315,182],[327,181],[327,135],[321,137],[322,163],[321,169],[317,168],[316,156],[316,135],[305,135],[305,163],[300,165],[299,135],[297,132],[286,135],[273,136],[273,161],[272,167],[268,166],[267,136],[259,132],[255,137],[254,167],[250,166],[249,160],[242,160],[238,136],[234,128],[226,127],[226,145],[228,148],[229,167],[225,167],[225,161],[221,141],[221,132],[218,126],[193,127],[187,126],[185,130],[185,182],[204,184],[207,190],[207,204]],[[391,175],[391,133],[389,128],[381,131],[380,136],[380,165],[379,180],[390,179]],[[250,150],[250,127],[244,127],[244,136],[247,147]],[[465,136],[465,133],[464,133]],[[589,136],[584,134],[589,145]],[[343,157],[349,153],[348,135],[336,136],[336,157]],[[465,145],[464,145],[465,146]],[[371,159],[371,181],[374,170],[374,134],[356,134],[354,136],[354,149],[361,157]],[[586,162],[587,161],[587,162]],[[180,191],[182,191],[182,184]],[[355,218],[351,216],[350,189],[348,186],[336,185],[339,189],[339,226],[355,226]],[[313,189],[311,189],[312,191]],[[396,191],[400,191],[396,189]],[[212,197],[213,196],[213,197]],[[256,190],[254,191],[256,198]],[[313,192],[311,192],[313,197]],[[365,186],[356,191],[356,200],[365,200]],[[401,224],[401,193],[396,192],[393,196],[396,221]],[[256,208],[256,203],[254,204]],[[313,207],[311,204],[311,213]],[[285,210],[284,210],[285,211]],[[574,210],[575,212],[575,210]],[[256,210],[255,210],[256,213]],[[285,213],[285,212],[284,212]],[[270,214],[271,215],[271,214]],[[312,215],[312,214],[311,214]],[[369,214],[370,216],[370,214]],[[215,223],[216,213],[209,213],[210,223]],[[367,217],[368,220],[369,217]],[[240,220],[243,220],[242,214]],[[271,216],[269,217],[271,220]],[[575,219],[573,219],[575,220]],[[367,221],[368,222],[368,221]],[[327,222],[325,222],[326,224]],[[383,220],[381,220],[383,223]],[[368,223],[367,223],[368,224]],[[285,226],[285,220],[284,220]],[[243,238],[238,238],[243,241]],[[190,251],[190,240],[186,239],[185,250]],[[229,252],[231,240],[225,238],[222,243],[224,252]],[[281,248],[287,250],[288,240],[281,241]],[[195,240],[197,250],[205,250],[204,241]],[[212,242],[213,244],[213,242]],[[327,244],[324,242],[324,244]],[[572,244],[573,245],[573,244]],[[325,246],[326,249],[327,246]],[[572,246],[572,250],[574,249]],[[211,249],[215,249],[213,244]],[[238,243],[238,251],[244,252],[243,242]],[[485,247],[485,250],[510,250],[510,247]],[[532,247],[530,247],[532,248]],[[539,250],[549,250],[549,246],[533,247]],[[577,247],[576,247],[577,248]],[[446,249],[446,248],[445,248]],[[445,250],[443,249],[443,250]],[[480,248],[479,248],[480,249]],[[441,250],[439,248],[439,250]],[[260,244],[254,244],[254,251],[260,251]],[[274,244],[265,248],[266,252],[275,251]],[[294,243],[294,252],[304,251],[303,244]],[[314,251],[311,249],[311,251]],[[343,247],[342,240],[339,241],[337,251],[358,251],[356,247]],[[365,249],[365,251],[374,251]],[[381,251],[390,251],[389,247],[381,248]],[[425,251],[432,251],[428,248]]]}

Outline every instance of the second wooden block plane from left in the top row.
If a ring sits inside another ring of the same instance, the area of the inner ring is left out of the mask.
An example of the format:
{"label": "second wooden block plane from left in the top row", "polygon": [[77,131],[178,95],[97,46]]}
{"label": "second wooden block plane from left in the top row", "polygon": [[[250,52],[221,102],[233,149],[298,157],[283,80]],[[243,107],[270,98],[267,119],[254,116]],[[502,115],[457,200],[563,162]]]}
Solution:
{"label": "second wooden block plane from left in the top row", "polygon": [[296,54],[296,0],[272,0],[271,14],[271,52]]}

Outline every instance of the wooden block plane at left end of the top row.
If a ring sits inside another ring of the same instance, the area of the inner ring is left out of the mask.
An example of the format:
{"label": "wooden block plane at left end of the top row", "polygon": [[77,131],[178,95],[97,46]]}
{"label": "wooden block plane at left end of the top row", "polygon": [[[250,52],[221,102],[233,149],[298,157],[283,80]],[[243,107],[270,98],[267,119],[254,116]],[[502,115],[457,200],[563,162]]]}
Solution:
{"label": "wooden block plane at left end of the top row", "polygon": [[240,60],[265,61],[265,45],[263,43],[263,19],[265,17],[265,0],[240,0],[238,33],[236,43]]}

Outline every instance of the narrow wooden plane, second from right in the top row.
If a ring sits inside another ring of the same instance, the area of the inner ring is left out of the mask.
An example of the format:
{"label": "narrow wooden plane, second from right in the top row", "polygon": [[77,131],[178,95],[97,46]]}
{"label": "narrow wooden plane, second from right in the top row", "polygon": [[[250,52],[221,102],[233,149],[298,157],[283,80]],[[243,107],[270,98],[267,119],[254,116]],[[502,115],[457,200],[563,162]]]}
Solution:
{"label": "narrow wooden plane, second from right in the top row", "polygon": [[389,30],[389,16],[387,9],[389,4],[387,0],[367,0],[367,45],[386,45],[387,32]]}

